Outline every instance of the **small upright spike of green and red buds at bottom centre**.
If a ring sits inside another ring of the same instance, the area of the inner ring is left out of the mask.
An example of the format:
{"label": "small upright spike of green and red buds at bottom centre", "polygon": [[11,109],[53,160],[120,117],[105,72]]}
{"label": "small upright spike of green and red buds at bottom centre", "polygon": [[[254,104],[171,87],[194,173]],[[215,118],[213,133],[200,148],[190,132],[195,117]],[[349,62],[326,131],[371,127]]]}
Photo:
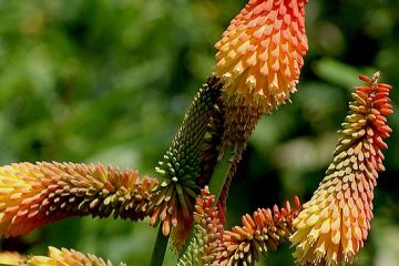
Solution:
{"label": "small upright spike of green and red buds at bottom centre", "polygon": [[194,236],[177,266],[214,265],[223,236],[223,224],[214,203],[215,196],[207,187],[203,188],[195,205]]}

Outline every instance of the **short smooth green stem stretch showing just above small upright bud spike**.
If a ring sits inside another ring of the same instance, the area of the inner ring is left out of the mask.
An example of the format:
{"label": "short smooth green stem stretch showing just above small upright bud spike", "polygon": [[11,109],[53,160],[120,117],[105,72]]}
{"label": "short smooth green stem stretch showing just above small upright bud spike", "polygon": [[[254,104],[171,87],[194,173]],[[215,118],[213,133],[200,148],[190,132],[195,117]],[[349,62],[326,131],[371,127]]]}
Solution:
{"label": "short smooth green stem stretch showing just above small upright bud spike", "polygon": [[226,183],[228,177],[228,173],[233,166],[233,149],[228,147],[222,157],[222,160],[217,163],[215,171],[212,174],[212,178],[209,181],[209,192],[215,195],[215,203],[218,201],[223,186]]}

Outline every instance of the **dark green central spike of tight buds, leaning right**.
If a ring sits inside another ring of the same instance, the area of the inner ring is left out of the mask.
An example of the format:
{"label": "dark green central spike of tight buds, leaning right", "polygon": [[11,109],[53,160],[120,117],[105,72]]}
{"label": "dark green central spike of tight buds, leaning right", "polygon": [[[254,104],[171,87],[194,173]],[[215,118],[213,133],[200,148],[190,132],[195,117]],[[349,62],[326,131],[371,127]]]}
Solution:
{"label": "dark green central spike of tight buds, leaning right", "polygon": [[219,80],[215,76],[200,89],[164,160],[156,167],[163,181],[152,203],[150,223],[153,226],[162,223],[164,236],[175,228],[177,245],[192,227],[195,197],[200,193],[201,151],[219,89]]}

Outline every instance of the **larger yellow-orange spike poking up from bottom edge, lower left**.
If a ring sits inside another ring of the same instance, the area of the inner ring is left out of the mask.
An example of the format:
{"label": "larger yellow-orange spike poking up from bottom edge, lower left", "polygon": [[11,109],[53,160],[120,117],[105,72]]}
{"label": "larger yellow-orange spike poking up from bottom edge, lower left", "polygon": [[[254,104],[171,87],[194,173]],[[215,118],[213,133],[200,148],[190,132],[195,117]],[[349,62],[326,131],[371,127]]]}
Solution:
{"label": "larger yellow-orange spike poking up from bottom edge, lower left", "polygon": [[[73,249],[49,247],[48,256],[32,256],[27,259],[23,266],[112,266],[110,260],[104,260],[91,254],[83,254]],[[124,264],[120,264],[122,266]]]}

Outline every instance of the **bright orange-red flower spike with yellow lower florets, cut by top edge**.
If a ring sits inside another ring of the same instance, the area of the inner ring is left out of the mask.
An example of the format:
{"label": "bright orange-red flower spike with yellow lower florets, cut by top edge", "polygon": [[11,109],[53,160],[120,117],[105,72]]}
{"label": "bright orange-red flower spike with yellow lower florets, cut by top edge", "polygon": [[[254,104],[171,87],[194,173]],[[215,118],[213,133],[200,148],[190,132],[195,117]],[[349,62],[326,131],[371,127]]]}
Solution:
{"label": "bright orange-red flower spike with yellow lower florets, cut by top edge", "polygon": [[215,44],[215,74],[225,82],[226,105],[269,113],[296,91],[303,57],[307,0],[250,0]]}

